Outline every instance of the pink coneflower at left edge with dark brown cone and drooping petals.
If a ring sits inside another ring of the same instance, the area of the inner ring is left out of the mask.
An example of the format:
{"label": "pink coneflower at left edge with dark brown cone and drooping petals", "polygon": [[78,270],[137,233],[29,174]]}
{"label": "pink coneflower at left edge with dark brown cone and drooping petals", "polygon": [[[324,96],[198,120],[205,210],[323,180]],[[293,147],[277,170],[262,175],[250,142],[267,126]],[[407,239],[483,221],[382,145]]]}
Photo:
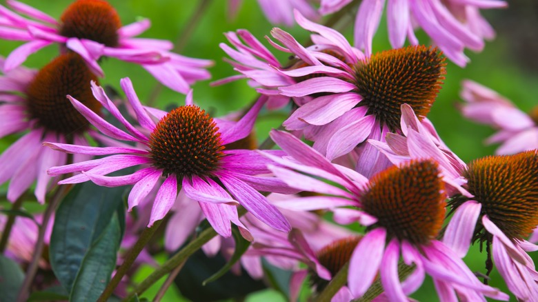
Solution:
{"label": "pink coneflower at left edge with dark brown cone and drooping petals", "polygon": [[[1,59],[0,66],[3,63]],[[74,52],[60,55],[39,72],[19,66],[4,73],[0,77],[0,137],[27,130],[28,133],[0,155],[0,183],[10,181],[8,200],[13,202],[37,181],[34,194],[37,201],[45,203],[51,188],[46,170],[53,165],[65,165],[68,159],[66,154],[44,148],[41,142],[88,145],[86,134],[98,137],[66,98],[72,94],[98,112],[101,105],[92,96],[89,85],[97,77]],[[87,155],[77,154],[72,160],[87,159]]]}

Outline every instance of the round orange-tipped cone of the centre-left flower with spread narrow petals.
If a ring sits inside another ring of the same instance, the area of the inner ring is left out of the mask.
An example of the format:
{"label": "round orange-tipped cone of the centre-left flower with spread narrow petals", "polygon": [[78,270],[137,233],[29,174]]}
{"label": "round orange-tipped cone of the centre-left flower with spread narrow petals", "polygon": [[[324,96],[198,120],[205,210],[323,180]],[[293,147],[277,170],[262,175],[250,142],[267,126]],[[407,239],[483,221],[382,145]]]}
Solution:
{"label": "round orange-tipped cone of the centre-left flower with spread narrow petals", "polygon": [[153,165],[164,176],[211,175],[223,156],[218,130],[209,114],[196,105],[172,110],[151,134]]}

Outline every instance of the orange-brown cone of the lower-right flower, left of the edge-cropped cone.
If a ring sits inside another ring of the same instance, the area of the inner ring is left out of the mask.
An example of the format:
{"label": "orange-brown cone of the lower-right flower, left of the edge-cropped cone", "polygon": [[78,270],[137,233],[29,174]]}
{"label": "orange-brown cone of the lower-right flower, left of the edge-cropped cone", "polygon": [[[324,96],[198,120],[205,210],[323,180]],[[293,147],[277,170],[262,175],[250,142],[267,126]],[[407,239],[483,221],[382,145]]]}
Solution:
{"label": "orange-brown cone of the lower-right flower, left of the edge-cropped cone", "polygon": [[437,163],[411,161],[376,174],[361,196],[364,212],[376,217],[388,238],[415,244],[434,238],[444,219],[444,183]]}

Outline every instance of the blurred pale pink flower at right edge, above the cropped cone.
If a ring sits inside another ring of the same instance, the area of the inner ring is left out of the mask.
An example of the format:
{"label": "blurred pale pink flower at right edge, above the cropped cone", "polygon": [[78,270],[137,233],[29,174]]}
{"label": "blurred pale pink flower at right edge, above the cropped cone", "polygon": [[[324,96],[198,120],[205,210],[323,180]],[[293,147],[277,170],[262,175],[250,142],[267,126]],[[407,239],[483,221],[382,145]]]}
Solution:
{"label": "blurred pale pink flower at right edge, above the cropped cone", "polygon": [[512,102],[489,88],[466,80],[462,83],[459,106],[468,119],[492,125],[499,130],[487,143],[501,143],[496,154],[515,154],[538,148],[538,107],[530,114],[521,112]]}

